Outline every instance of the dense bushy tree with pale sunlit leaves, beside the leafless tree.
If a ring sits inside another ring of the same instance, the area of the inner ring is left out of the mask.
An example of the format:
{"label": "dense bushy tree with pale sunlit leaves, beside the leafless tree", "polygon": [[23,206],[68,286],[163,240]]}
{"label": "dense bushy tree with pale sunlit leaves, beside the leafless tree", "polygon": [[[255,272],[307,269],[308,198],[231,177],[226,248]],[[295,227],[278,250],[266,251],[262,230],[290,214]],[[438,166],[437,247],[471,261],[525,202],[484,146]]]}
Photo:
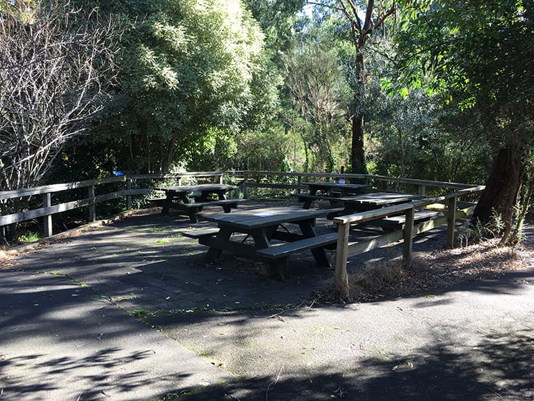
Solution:
{"label": "dense bushy tree with pale sunlit leaves, beside the leafless tree", "polygon": [[119,168],[165,173],[214,129],[238,132],[264,100],[264,36],[241,1],[99,3],[123,29],[119,88],[95,129]]}

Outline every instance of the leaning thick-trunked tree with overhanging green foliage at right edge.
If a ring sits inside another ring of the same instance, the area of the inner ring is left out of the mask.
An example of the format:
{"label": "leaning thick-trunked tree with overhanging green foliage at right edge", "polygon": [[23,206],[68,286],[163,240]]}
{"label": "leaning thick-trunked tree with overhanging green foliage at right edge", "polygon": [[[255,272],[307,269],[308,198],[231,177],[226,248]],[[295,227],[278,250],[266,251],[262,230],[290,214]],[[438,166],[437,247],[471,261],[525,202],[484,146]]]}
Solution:
{"label": "leaning thick-trunked tree with overhanging green foliage at right edge", "polygon": [[419,84],[414,72],[431,72],[432,89],[478,120],[494,160],[474,219],[501,215],[506,242],[534,146],[534,4],[440,0],[406,9],[399,41],[407,77]]}

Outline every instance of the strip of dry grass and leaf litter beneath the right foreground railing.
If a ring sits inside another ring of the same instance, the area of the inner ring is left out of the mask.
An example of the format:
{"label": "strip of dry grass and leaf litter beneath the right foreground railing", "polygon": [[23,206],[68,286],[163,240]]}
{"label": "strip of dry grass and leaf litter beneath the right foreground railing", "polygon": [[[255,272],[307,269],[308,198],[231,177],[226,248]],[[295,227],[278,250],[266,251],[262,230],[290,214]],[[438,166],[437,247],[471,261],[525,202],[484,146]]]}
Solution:
{"label": "strip of dry grass and leaf litter beneath the right foreground railing", "polygon": [[401,259],[368,265],[348,277],[348,291],[332,282],[319,295],[329,303],[371,301],[447,288],[533,265],[533,249],[499,247],[496,240],[489,240],[417,256],[410,265]]}

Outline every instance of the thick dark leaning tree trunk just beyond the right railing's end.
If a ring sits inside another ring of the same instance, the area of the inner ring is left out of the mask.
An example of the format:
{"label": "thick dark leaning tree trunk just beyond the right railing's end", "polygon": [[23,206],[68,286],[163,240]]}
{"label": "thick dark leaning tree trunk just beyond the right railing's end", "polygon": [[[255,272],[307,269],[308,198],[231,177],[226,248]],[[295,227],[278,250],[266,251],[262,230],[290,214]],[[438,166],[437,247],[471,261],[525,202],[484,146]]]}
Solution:
{"label": "thick dark leaning tree trunk just beyond the right railing's end", "polygon": [[501,215],[505,228],[501,243],[505,243],[512,228],[512,217],[523,182],[524,164],[521,152],[515,148],[502,148],[496,155],[486,189],[480,196],[471,221],[489,223],[492,214]]}

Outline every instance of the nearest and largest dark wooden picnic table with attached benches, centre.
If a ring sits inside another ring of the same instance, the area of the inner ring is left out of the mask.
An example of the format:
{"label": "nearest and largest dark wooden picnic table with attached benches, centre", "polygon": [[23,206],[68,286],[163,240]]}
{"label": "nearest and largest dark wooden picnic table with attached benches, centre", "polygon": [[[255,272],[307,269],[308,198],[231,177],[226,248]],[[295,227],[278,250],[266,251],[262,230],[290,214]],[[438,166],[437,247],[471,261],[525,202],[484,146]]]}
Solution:
{"label": "nearest and largest dark wooden picnic table with attached benches, centre", "polygon": [[[205,216],[217,223],[217,228],[193,230],[182,233],[209,246],[207,257],[218,258],[222,251],[268,262],[268,266],[281,272],[289,255],[311,249],[318,265],[330,266],[325,249],[333,249],[337,233],[317,235],[314,223],[331,210],[305,210],[300,207],[266,207],[256,210],[240,210],[232,214]],[[291,231],[287,225],[298,226],[300,232]],[[281,229],[279,229],[281,228]],[[245,242],[250,237],[252,240]],[[278,242],[273,242],[277,240]]]}

